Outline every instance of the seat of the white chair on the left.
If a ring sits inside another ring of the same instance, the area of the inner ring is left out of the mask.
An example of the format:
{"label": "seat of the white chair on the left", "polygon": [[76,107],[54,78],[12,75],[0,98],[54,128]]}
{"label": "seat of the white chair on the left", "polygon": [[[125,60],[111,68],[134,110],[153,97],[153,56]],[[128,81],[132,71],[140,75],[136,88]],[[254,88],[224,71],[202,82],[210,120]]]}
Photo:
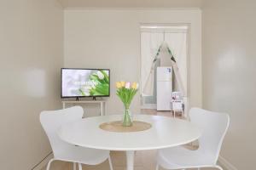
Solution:
{"label": "seat of the white chair on the left", "polygon": [[55,159],[61,161],[73,161],[87,165],[96,165],[106,161],[109,156],[109,150],[96,150],[71,145],[66,150],[61,150]]}

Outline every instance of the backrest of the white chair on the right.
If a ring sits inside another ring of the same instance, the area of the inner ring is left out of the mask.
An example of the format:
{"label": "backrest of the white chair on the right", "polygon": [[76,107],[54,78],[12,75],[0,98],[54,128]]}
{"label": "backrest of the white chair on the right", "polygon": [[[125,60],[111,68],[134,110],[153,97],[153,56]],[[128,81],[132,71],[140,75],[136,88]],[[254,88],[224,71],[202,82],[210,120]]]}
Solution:
{"label": "backrest of the white chair on the right", "polygon": [[230,116],[225,113],[192,108],[189,111],[191,122],[201,127],[203,133],[199,139],[199,149],[211,156],[214,163],[218,161],[219,151],[225,133],[230,125]]}

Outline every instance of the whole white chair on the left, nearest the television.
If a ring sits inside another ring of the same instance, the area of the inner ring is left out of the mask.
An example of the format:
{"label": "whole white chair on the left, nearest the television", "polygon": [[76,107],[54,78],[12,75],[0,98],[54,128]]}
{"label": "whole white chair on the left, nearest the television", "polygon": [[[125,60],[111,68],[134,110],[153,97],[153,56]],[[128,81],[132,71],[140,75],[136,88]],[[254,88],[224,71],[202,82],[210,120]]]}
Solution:
{"label": "whole white chair on the left, nearest the television", "polygon": [[49,170],[50,163],[55,160],[73,162],[73,169],[79,164],[79,170],[82,170],[81,164],[96,165],[108,159],[110,169],[113,170],[109,150],[95,150],[67,144],[57,135],[57,130],[61,125],[67,122],[74,122],[82,119],[84,114],[83,108],[74,106],[59,111],[43,111],[40,115],[40,122],[44,127],[44,131],[49,138],[49,143],[53,150],[54,158],[47,165]]}

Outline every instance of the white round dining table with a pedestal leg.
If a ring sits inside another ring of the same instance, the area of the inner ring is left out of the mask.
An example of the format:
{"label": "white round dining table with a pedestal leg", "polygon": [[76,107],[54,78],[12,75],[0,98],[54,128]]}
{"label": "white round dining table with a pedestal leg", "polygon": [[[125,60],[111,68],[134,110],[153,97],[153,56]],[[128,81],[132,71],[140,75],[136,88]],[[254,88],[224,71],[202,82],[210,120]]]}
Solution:
{"label": "white round dining table with a pedestal leg", "polygon": [[158,150],[188,144],[199,139],[202,132],[185,120],[149,115],[134,115],[135,121],[152,125],[145,131],[114,133],[99,127],[104,122],[119,120],[121,115],[88,117],[63,125],[58,134],[69,144],[98,150],[124,150],[127,170],[133,170],[136,150]]}

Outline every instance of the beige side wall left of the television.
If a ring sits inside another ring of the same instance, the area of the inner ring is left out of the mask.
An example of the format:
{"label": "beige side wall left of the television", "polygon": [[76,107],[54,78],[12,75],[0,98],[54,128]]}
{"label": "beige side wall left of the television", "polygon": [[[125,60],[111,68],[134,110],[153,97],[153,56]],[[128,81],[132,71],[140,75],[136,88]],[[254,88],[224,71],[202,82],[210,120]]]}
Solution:
{"label": "beige side wall left of the television", "polygon": [[32,169],[50,152],[39,113],[61,107],[62,30],[54,0],[0,1],[1,169]]}

